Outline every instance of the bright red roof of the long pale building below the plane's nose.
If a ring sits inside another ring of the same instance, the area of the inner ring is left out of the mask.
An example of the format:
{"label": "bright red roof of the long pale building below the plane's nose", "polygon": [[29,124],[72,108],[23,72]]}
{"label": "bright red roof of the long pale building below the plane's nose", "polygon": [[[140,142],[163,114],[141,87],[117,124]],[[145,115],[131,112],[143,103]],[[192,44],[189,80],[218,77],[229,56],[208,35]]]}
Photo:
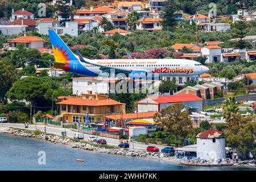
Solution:
{"label": "bright red roof of the long pale building below the plane's nose", "polygon": [[[151,100],[154,100],[159,104],[185,102],[185,101],[203,101],[203,98],[197,97],[193,94],[179,94],[179,95],[173,95],[173,96],[150,96],[147,98],[150,98]],[[138,101],[138,104],[143,103],[141,101]]]}

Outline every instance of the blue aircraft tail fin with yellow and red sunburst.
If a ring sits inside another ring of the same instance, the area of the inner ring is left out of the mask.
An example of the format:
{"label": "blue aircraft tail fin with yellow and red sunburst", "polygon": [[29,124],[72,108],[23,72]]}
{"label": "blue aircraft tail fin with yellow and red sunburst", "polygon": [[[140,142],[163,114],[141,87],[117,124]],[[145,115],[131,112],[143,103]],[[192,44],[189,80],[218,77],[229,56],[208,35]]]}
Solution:
{"label": "blue aircraft tail fin with yellow and red sunburst", "polygon": [[54,30],[48,30],[48,34],[56,62],[67,63],[69,60],[77,60],[75,54]]}

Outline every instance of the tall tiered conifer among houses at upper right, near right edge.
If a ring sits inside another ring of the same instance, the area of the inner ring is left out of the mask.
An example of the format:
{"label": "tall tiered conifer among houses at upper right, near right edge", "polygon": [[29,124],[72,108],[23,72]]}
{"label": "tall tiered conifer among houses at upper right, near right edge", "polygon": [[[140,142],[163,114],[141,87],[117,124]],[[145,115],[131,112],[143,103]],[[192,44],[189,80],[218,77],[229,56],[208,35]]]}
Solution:
{"label": "tall tiered conifer among houses at upper right, near right edge", "polygon": [[248,24],[243,20],[243,15],[238,15],[239,20],[233,23],[232,33],[234,38],[238,38],[238,48],[243,49],[246,47],[246,42],[243,38],[248,33]]}

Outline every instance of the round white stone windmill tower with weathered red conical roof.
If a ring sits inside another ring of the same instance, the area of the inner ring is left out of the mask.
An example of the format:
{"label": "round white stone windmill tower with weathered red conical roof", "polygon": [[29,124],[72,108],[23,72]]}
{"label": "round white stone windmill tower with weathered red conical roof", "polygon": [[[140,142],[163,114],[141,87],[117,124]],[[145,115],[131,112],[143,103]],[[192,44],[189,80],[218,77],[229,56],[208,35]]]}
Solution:
{"label": "round white stone windmill tower with weathered red conical roof", "polygon": [[209,129],[196,136],[197,158],[216,162],[226,158],[225,136],[218,130]]}

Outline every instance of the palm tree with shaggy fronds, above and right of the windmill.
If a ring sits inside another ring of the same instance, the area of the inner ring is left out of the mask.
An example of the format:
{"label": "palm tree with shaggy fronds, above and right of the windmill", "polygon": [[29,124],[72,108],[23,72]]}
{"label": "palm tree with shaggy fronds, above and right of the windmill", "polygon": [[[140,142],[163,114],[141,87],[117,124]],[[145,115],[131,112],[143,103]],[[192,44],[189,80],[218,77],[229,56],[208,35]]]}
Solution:
{"label": "palm tree with shaggy fronds, above and right of the windmill", "polygon": [[223,117],[226,119],[226,123],[228,126],[230,124],[234,123],[236,119],[236,114],[238,113],[239,110],[239,104],[236,102],[234,97],[229,97],[227,98],[224,103],[223,103]]}

